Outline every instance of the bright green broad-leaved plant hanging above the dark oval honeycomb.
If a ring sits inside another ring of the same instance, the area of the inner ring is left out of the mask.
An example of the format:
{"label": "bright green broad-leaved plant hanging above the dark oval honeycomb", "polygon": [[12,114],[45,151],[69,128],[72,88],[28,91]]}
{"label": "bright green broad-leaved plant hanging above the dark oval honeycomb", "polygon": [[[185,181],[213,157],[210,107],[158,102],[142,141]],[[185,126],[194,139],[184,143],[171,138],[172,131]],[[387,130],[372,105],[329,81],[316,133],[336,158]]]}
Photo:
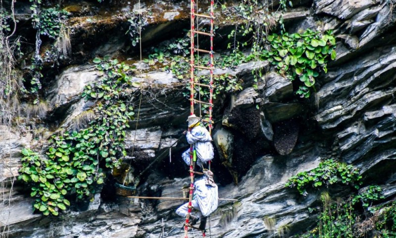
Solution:
{"label": "bright green broad-leaved plant hanging above the dark oval honeycomb", "polygon": [[332,31],[322,34],[307,29],[302,34],[272,34],[266,42],[268,47],[262,51],[261,59],[269,60],[290,80],[298,78],[302,85],[297,94],[305,98],[310,96],[309,88],[314,87],[319,72],[327,73],[327,62],[336,59],[336,39]]}

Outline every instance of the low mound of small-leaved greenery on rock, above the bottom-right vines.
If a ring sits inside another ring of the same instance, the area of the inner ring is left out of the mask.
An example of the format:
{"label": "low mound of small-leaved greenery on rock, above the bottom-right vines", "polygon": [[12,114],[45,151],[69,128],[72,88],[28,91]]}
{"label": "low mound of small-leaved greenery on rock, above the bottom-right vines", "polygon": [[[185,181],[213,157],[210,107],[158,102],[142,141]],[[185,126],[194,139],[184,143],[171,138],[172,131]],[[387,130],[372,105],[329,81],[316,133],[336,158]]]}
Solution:
{"label": "low mound of small-leaved greenery on rock, above the bottom-right vines", "polygon": [[319,166],[308,172],[301,172],[288,180],[285,186],[297,187],[301,195],[307,195],[307,188],[320,187],[341,182],[343,184],[351,184],[356,189],[359,188],[361,182],[359,172],[351,165],[336,162],[332,159],[323,161]]}

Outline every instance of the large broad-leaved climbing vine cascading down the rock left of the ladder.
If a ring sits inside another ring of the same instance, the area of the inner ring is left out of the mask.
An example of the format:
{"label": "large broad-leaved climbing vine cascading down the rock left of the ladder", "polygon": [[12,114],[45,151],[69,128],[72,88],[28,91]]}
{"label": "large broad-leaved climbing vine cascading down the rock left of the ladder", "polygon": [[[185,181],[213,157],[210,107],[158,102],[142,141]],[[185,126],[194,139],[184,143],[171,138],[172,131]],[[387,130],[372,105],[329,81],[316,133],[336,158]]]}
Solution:
{"label": "large broad-leaved climbing vine cascading down the rock left of the ladder", "polygon": [[79,131],[52,135],[46,157],[22,150],[19,179],[31,184],[34,208],[44,215],[65,210],[67,194],[92,197],[106,169],[118,167],[126,156],[125,129],[134,115],[127,98],[140,85],[131,81],[131,67],[123,62],[96,58],[94,63],[101,79],[86,86],[82,97],[95,102],[96,119]]}

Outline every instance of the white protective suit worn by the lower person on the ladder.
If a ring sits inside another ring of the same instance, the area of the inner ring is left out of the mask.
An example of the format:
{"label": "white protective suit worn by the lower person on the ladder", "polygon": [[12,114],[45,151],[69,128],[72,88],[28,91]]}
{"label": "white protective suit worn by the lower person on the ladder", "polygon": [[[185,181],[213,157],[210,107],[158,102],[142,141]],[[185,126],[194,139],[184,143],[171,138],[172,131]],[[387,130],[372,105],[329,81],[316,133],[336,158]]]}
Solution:
{"label": "white protective suit worn by the lower person on the ladder", "polygon": [[[192,206],[200,211],[197,214],[198,217],[207,217],[212,212],[214,212],[218,206],[219,195],[217,185],[206,185],[205,179],[199,179],[194,183],[194,186],[195,191],[192,200]],[[185,203],[184,205],[180,206],[176,210],[177,215],[186,217],[189,210],[188,205],[189,203]]]}

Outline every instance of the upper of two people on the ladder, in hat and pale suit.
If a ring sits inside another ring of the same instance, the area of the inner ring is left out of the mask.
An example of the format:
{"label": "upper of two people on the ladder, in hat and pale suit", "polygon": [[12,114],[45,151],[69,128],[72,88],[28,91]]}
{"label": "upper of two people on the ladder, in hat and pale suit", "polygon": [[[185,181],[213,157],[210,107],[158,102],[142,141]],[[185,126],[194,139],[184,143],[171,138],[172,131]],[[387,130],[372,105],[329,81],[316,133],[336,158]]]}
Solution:
{"label": "upper of two people on the ladder, in hat and pale suit", "polygon": [[[209,131],[200,124],[199,117],[193,114],[188,117],[187,121],[189,128],[183,134],[186,135],[187,142],[193,144],[193,150],[197,155],[197,165],[203,169],[206,162],[211,161],[214,156],[212,137]],[[182,158],[187,165],[190,165],[190,149],[182,154]]]}

